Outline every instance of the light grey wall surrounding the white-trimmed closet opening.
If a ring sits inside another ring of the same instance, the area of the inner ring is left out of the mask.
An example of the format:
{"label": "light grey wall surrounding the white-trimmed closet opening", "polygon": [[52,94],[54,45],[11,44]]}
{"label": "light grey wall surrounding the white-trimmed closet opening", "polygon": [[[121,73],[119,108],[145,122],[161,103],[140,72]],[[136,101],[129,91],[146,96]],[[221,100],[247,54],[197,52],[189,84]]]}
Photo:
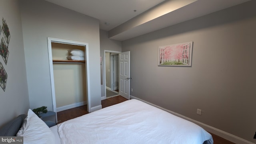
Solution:
{"label": "light grey wall surrounding the white-trimmed closet opening", "polygon": [[20,0],[30,107],[52,110],[47,37],[88,43],[91,107],[101,106],[99,21],[44,0]]}

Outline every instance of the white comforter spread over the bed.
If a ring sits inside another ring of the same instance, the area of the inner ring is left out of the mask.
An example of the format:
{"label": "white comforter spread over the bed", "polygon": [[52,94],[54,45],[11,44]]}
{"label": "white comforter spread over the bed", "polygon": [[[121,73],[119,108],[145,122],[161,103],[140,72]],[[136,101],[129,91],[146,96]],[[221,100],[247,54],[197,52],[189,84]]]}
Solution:
{"label": "white comforter spread over the bed", "polygon": [[200,126],[139,100],[58,124],[62,144],[213,144]]}

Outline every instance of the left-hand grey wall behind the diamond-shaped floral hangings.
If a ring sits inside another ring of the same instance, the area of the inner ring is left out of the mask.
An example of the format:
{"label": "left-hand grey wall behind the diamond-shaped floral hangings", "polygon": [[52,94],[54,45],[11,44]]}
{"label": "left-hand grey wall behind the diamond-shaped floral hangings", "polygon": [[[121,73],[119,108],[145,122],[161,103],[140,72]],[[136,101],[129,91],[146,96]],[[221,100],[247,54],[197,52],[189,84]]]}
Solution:
{"label": "left-hand grey wall behind the diamond-shaped floral hangings", "polygon": [[[2,63],[8,77],[5,91],[0,87],[0,127],[20,114],[26,114],[29,108],[26,64],[22,38],[22,26],[18,0],[1,0],[0,26],[2,18],[6,20],[10,31],[7,64]],[[2,39],[3,33],[0,34]]]}

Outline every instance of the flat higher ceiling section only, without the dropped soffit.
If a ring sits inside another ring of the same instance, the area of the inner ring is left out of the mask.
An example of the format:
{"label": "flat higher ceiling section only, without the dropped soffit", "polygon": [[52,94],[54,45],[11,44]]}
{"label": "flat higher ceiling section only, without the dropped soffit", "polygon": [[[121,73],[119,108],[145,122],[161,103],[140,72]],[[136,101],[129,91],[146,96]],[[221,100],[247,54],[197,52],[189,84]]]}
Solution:
{"label": "flat higher ceiling section only, without the dropped soffit", "polygon": [[[111,30],[164,0],[46,0],[100,20],[100,29]],[[134,12],[136,10],[136,12]],[[105,22],[110,23],[108,26]]]}

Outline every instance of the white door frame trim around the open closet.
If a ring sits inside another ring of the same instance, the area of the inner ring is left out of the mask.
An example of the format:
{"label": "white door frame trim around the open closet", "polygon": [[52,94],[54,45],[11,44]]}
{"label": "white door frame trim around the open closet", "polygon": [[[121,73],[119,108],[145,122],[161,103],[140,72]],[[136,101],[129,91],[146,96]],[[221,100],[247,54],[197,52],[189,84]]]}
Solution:
{"label": "white door frame trim around the open closet", "polygon": [[[76,42],[71,40],[62,40],[58,38],[47,38],[48,40],[48,54],[49,54],[49,65],[50,65],[50,80],[52,88],[52,106],[53,111],[57,112],[56,108],[56,96],[55,96],[55,87],[54,87],[54,72],[53,72],[53,63],[52,63],[52,42],[61,43],[61,44],[72,44],[77,46],[84,46],[85,48],[85,75],[86,75],[86,92],[87,92],[87,110],[91,109],[91,97],[90,97],[90,73],[89,73],[89,47],[88,43]],[[57,120],[57,114],[56,114]]]}

